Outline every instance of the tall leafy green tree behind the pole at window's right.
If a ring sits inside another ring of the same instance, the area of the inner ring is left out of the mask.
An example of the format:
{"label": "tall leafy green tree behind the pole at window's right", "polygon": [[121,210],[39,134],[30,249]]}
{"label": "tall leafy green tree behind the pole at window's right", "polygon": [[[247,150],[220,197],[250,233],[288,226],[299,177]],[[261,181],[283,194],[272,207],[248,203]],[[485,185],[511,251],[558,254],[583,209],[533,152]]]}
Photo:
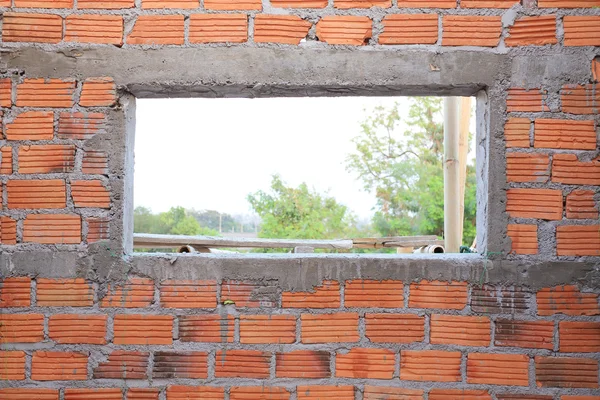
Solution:
{"label": "tall leafy green tree behind the pole at window's right", "polygon": [[[375,194],[374,228],[382,236],[443,235],[444,176],[442,99],[415,97],[408,118],[399,105],[377,107],[352,141],[346,168]],[[407,126],[400,132],[401,123]],[[467,168],[464,241],[475,236],[475,168]]]}

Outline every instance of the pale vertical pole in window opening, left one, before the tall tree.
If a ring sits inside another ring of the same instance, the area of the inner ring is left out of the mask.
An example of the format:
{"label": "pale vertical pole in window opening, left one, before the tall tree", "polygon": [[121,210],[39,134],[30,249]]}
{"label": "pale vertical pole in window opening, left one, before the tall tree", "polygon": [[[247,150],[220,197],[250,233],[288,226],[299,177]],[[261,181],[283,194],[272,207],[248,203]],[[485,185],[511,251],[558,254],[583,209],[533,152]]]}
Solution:
{"label": "pale vertical pole in window opening, left one, before the tall tree", "polygon": [[444,241],[447,253],[460,249],[459,101],[444,98]]}

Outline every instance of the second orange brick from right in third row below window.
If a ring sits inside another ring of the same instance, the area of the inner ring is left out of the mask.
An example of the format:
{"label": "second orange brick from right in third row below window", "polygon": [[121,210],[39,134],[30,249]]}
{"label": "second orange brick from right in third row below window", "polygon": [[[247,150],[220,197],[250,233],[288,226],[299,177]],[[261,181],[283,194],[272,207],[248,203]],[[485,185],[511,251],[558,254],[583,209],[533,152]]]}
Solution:
{"label": "second orange brick from right in third row below window", "polygon": [[529,356],[524,354],[469,353],[467,383],[529,385]]}

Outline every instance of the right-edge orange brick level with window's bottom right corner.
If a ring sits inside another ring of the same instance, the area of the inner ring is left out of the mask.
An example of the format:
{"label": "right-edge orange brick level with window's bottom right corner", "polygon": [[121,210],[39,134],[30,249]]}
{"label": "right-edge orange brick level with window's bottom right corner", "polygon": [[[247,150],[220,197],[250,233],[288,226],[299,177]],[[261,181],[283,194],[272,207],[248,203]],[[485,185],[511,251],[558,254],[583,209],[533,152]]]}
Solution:
{"label": "right-edge orange brick level with window's bottom right corner", "polygon": [[600,225],[556,227],[556,255],[600,256]]}

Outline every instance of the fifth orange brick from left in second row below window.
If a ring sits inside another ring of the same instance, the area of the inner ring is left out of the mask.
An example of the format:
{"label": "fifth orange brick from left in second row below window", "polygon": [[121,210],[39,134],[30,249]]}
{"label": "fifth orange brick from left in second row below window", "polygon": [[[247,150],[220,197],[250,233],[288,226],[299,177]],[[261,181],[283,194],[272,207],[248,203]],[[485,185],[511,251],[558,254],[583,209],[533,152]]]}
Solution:
{"label": "fifth orange brick from left in second row below window", "polygon": [[240,343],[294,343],[296,317],[294,315],[241,315]]}

